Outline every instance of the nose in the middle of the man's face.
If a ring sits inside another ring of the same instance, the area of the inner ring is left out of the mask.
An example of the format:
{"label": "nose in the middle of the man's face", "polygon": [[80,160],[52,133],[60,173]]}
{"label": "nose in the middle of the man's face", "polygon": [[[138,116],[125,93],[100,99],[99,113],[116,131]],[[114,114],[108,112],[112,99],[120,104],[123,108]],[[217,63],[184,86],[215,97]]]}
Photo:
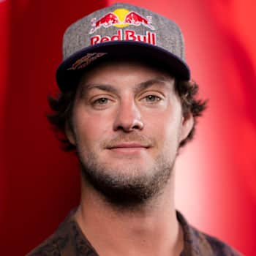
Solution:
{"label": "nose in the middle of the man's face", "polygon": [[116,118],[113,124],[113,129],[116,131],[122,129],[124,132],[132,132],[135,129],[143,129],[143,121],[141,120],[140,110],[135,102],[122,102],[116,113]]}

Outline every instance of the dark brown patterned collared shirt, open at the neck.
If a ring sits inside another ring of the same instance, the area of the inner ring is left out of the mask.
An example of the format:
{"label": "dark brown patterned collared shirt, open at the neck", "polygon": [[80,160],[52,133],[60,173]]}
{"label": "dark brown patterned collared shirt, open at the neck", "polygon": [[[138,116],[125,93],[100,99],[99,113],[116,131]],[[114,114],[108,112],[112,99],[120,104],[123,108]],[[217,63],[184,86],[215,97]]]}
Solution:
{"label": "dark brown patterned collared shirt, open at the neck", "polygon": [[[180,256],[238,256],[236,252],[219,239],[208,236],[192,227],[177,213],[178,222],[184,232],[184,249]],[[53,235],[26,256],[99,256],[83,235],[72,214],[59,225]],[[104,256],[104,255],[103,255]]]}

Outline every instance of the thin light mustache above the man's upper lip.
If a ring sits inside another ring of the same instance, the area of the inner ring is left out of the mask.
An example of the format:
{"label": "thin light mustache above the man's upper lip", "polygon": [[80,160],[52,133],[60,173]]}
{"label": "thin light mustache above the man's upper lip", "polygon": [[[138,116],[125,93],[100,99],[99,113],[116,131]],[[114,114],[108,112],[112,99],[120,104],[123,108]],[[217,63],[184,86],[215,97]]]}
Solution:
{"label": "thin light mustache above the man's upper lip", "polygon": [[102,148],[114,148],[121,143],[138,143],[144,147],[153,147],[157,145],[154,138],[148,138],[145,135],[138,135],[138,133],[120,134],[111,140],[103,140],[101,143]]}

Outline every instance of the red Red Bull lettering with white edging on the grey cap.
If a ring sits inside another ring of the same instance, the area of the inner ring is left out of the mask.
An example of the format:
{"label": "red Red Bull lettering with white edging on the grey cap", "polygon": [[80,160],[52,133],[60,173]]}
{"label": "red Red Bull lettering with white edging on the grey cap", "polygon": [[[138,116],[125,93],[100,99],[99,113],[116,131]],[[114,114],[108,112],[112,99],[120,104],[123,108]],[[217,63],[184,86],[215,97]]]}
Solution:
{"label": "red Red Bull lettering with white edging on the grey cap", "polygon": [[117,34],[112,35],[111,37],[106,36],[102,37],[100,35],[96,35],[91,37],[91,45],[96,45],[101,42],[108,41],[116,41],[116,40],[131,40],[138,42],[147,42],[151,45],[156,45],[156,33],[151,31],[146,31],[146,35],[136,34],[135,31],[126,29],[122,31],[122,29],[118,29]]}

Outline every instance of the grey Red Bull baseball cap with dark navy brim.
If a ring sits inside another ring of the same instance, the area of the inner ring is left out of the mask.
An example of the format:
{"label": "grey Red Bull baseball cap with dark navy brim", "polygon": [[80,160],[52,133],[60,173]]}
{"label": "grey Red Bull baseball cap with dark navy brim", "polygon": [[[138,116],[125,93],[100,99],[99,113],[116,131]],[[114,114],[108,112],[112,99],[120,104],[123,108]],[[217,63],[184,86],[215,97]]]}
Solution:
{"label": "grey Red Bull baseball cap with dark navy brim", "polygon": [[63,62],[56,71],[61,91],[75,88],[86,67],[113,56],[146,58],[190,79],[181,29],[151,10],[116,3],[92,12],[70,25],[63,37]]}

